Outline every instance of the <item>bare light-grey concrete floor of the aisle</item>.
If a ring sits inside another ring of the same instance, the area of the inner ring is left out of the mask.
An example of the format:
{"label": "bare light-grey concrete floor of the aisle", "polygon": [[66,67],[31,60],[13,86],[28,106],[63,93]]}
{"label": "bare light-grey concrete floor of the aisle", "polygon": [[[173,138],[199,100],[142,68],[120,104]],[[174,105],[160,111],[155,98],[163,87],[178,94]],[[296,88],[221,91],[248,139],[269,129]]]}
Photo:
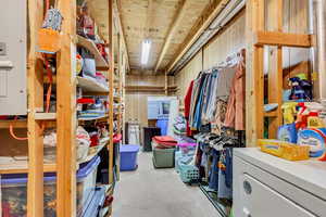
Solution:
{"label": "bare light-grey concrete floor of the aisle", "polygon": [[136,171],[121,173],[112,217],[218,217],[198,187],[174,169],[154,169],[152,153],[140,153]]}

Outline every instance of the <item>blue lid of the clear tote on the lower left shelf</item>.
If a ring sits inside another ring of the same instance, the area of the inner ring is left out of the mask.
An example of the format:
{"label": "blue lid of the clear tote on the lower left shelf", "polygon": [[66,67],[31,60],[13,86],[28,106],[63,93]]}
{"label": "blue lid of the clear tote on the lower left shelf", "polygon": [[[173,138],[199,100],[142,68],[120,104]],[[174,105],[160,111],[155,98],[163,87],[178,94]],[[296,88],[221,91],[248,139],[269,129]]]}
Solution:
{"label": "blue lid of the clear tote on the lower left shelf", "polygon": [[[77,171],[77,179],[87,177],[93,169],[100,164],[101,159],[99,156],[93,157],[90,162],[80,164]],[[45,181],[55,181],[55,173],[47,173],[45,175]],[[1,177],[1,184],[13,184],[13,183],[27,183],[27,174],[10,174]]]}

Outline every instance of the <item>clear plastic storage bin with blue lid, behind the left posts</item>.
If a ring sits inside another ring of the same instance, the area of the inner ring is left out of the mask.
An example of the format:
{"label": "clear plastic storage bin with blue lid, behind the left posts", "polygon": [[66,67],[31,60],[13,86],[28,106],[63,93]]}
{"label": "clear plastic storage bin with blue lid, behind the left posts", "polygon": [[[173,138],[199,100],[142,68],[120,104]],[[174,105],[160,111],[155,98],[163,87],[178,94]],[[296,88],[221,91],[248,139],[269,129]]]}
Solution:
{"label": "clear plastic storage bin with blue lid, behind the left posts", "polygon": [[[77,171],[77,215],[85,210],[96,188],[97,166],[100,157],[80,165]],[[57,216],[57,177],[55,174],[45,176],[45,216]],[[25,217],[27,208],[27,175],[3,175],[1,177],[2,216]]]}

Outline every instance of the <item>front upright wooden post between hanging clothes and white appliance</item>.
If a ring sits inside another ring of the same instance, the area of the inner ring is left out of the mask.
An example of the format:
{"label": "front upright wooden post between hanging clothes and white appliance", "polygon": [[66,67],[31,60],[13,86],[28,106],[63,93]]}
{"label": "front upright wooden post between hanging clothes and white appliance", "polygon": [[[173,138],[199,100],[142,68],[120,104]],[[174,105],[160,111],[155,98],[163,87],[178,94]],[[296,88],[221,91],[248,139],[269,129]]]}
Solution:
{"label": "front upright wooden post between hanging clothes and white appliance", "polygon": [[265,25],[264,0],[248,0],[246,5],[246,138],[247,146],[255,146],[264,128],[264,50],[255,47],[253,34]]}

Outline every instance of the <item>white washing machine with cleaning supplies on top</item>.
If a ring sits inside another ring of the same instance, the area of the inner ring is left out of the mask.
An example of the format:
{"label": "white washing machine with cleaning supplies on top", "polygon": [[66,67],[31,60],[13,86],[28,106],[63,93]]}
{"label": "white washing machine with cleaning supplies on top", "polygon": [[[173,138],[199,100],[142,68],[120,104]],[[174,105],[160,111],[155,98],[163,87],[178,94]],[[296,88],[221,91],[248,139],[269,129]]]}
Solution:
{"label": "white washing machine with cleaning supplies on top", "polygon": [[235,217],[326,217],[326,162],[234,151]]}

